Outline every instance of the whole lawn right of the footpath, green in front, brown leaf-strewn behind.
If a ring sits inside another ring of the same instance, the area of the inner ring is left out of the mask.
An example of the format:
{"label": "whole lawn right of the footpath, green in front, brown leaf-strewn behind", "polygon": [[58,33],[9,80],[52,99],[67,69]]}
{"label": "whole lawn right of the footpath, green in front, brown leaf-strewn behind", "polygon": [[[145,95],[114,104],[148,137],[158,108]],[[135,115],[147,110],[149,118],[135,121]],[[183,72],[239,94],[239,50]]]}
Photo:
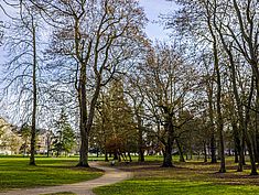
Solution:
{"label": "whole lawn right of the footpath, green in front, brown leaf-strewn behind", "polygon": [[247,195],[259,194],[259,176],[249,176],[249,167],[236,172],[227,161],[227,173],[217,173],[219,164],[203,162],[175,163],[176,167],[160,167],[161,163],[131,163],[119,169],[133,172],[134,177],[119,184],[95,188],[97,195]]}

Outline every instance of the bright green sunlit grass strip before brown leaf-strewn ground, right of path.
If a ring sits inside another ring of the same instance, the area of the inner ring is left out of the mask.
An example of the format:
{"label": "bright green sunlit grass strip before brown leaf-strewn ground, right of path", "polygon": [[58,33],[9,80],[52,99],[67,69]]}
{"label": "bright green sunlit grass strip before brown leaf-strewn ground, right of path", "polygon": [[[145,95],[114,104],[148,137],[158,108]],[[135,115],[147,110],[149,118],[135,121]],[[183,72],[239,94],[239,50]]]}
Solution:
{"label": "bright green sunlit grass strip before brown leaf-strewn ground, right of path", "polygon": [[112,186],[98,187],[98,195],[199,195],[199,194],[258,194],[259,186],[218,185],[209,182],[191,182],[175,180],[130,180]]}

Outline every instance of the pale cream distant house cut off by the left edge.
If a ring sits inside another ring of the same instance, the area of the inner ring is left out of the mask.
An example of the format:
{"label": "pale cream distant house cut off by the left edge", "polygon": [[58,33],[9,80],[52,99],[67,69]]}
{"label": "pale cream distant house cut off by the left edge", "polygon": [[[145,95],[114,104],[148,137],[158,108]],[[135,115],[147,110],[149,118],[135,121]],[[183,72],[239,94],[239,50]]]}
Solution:
{"label": "pale cream distant house cut off by the left edge", "polygon": [[17,134],[17,127],[0,117],[0,154],[18,154],[22,138]]}

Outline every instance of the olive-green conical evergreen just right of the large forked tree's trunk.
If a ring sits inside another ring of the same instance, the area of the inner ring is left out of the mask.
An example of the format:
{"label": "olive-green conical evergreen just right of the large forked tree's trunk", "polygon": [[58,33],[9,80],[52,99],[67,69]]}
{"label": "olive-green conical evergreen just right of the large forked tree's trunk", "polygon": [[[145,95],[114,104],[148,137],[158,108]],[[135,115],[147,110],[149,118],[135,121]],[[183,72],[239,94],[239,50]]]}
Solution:
{"label": "olive-green conical evergreen just right of the large forked tree's trunk", "polygon": [[[132,110],[127,102],[123,94],[123,84],[121,80],[116,80],[109,88],[109,121],[111,140],[114,143],[115,159],[122,156],[123,160],[131,161],[130,152],[137,152],[138,148],[138,132],[136,123],[133,122]],[[128,158],[127,158],[128,153]]]}

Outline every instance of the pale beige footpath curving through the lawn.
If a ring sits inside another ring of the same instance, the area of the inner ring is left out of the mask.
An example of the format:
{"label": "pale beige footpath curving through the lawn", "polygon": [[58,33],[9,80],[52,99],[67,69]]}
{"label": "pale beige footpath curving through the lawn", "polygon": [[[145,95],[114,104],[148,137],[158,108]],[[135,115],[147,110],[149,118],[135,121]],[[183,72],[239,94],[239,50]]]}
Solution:
{"label": "pale beige footpath curving through the lawn", "polygon": [[40,188],[21,188],[9,191],[6,193],[0,193],[0,195],[39,195],[39,194],[52,194],[52,193],[62,193],[62,192],[72,192],[77,195],[94,195],[91,192],[93,188],[110,185],[123,180],[130,178],[132,173],[123,172],[118,169],[107,167],[98,165],[97,163],[91,164],[93,167],[104,170],[105,174],[98,178],[79,182],[75,184],[66,184],[52,187],[40,187]]}

